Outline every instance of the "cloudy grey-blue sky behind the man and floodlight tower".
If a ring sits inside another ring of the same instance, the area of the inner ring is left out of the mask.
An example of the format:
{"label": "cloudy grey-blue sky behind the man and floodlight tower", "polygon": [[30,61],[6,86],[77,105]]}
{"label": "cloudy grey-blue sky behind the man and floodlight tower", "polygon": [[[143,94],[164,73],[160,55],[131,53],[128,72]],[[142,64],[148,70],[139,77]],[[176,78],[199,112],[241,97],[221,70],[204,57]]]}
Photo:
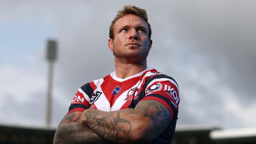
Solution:
{"label": "cloudy grey-blue sky behind the man and floodlight tower", "polygon": [[125,4],[148,12],[148,66],[178,82],[178,126],[256,127],[253,0],[1,0],[0,125],[45,126],[46,41],[56,39],[57,127],[79,87],[115,70],[108,28]]}

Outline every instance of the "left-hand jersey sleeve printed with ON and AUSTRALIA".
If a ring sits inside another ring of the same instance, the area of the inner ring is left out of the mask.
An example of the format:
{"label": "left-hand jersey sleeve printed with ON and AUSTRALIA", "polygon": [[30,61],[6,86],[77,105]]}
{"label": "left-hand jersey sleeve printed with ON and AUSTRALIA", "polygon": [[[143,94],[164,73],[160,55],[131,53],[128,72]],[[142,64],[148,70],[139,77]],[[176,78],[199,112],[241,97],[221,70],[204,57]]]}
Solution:
{"label": "left-hand jersey sleeve printed with ON and AUSTRALIA", "polygon": [[69,113],[74,111],[83,112],[90,107],[91,95],[93,93],[92,82],[86,83],[74,95],[69,107]]}

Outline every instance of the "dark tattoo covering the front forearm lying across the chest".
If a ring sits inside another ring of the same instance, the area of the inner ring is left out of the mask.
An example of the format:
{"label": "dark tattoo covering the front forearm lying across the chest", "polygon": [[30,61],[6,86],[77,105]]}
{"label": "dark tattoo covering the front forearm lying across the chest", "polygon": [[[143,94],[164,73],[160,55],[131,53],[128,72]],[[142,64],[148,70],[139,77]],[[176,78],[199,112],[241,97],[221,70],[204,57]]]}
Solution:
{"label": "dark tattoo covering the front forearm lying across the chest", "polygon": [[131,130],[131,122],[120,115],[133,113],[131,109],[124,109],[115,112],[103,112],[94,109],[88,109],[85,114],[87,125],[96,133],[113,143],[127,142]]}

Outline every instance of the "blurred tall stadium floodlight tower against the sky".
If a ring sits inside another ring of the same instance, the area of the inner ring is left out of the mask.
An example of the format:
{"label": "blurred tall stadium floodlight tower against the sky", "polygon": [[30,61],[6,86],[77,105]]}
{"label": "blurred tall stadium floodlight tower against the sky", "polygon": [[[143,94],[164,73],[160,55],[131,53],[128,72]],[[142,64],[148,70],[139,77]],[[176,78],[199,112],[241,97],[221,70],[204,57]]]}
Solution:
{"label": "blurred tall stadium floodlight tower against the sky", "polygon": [[55,40],[48,40],[47,42],[47,60],[49,62],[48,72],[48,91],[47,91],[47,102],[46,102],[46,127],[51,126],[51,106],[52,106],[52,73],[53,63],[56,61],[57,55],[57,42]]}

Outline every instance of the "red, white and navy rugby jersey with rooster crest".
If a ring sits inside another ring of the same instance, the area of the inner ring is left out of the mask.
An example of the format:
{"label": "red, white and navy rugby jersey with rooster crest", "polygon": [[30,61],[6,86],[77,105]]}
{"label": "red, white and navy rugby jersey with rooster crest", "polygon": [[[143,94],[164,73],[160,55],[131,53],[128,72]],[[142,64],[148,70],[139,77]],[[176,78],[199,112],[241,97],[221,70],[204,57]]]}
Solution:
{"label": "red, white and navy rugby jersey with rooster crest", "polygon": [[161,138],[155,140],[159,139],[158,142],[163,142],[164,138],[170,141],[173,138],[178,115],[179,87],[173,78],[155,69],[147,68],[125,79],[117,78],[115,72],[112,72],[102,79],[86,83],[76,92],[68,114],[74,111],[83,112],[88,108],[102,111],[135,108],[142,100],[156,100],[169,110],[172,121],[158,136]]}

